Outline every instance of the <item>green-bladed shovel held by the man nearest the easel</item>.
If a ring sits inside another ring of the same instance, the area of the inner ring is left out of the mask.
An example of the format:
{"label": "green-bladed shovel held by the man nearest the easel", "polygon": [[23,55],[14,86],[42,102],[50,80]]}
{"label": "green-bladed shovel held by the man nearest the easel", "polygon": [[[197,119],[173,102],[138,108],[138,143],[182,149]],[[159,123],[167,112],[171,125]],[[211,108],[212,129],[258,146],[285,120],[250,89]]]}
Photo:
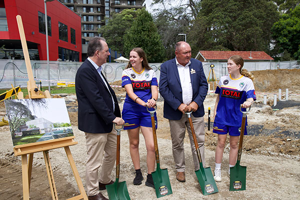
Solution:
{"label": "green-bladed shovel held by the man nearest the easel", "polygon": [[117,129],[115,123],[113,123],[113,128],[117,131],[116,133],[116,162],[115,162],[115,182],[109,185],[106,185],[106,190],[108,198],[110,200],[130,200],[129,193],[127,190],[126,181],[119,182],[120,174],[120,132],[123,129],[124,125]]}

